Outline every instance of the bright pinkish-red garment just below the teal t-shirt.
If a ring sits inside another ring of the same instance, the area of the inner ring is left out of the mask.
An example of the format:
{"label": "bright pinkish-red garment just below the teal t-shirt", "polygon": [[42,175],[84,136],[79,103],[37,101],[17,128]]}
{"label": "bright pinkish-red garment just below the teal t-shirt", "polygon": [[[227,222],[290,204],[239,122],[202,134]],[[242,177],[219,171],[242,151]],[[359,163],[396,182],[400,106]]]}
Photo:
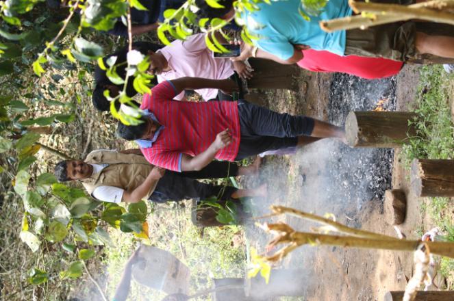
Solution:
{"label": "bright pinkish-red garment just below the teal t-shirt", "polygon": [[403,66],[403,62],[383,57],[340,56],[314,49],[303,50],[303,55],[303,60],[298,62],[301,68],[315,72],[347,73],[365,79],[380,79],[396,75]]}

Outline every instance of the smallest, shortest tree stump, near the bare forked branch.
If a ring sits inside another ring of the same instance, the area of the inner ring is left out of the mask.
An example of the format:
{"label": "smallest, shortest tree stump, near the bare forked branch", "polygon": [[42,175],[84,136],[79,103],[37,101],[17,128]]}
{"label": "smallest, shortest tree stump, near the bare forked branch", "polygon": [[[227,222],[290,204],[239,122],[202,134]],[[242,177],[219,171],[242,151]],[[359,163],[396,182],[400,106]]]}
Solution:
{"label": "smallest, shortest tree stump, near the bare forked branch", "polygon": [[388,224],[402,224],[405,220],[405,209],[407,208],[405,193],[401,189],[386,190],[384,205]]}

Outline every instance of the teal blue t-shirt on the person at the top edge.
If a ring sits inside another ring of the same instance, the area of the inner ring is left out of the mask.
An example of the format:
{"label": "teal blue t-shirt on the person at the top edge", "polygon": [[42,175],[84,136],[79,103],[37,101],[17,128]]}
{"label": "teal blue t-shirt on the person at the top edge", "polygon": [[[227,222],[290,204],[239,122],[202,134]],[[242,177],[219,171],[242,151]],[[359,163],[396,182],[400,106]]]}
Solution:
{"label": "teal blue t-shirt on the person at the top edge", "polygon": [[344,55],[345,31],[327,33],[318,22],[351,16],[352,10],[347,0],[329,0],[323,12],[318,16],[310,16],[310,21],[305,21],[299,14],[301,0],[277,0],[271,4],[257,5],[260,10],[246,11],[241,16],[249,32],[260,37],[259,40],[253,40],[256,47],[281,60],[292,57],[293,44],[305,44],[315,50]]}

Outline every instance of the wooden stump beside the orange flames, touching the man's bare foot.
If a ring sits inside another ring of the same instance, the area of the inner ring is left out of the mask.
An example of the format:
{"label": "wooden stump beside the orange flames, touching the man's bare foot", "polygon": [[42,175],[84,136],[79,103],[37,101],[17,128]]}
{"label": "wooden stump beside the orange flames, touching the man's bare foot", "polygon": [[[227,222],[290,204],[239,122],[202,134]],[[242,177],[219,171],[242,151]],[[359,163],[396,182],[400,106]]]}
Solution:
{"label": "wooden stump beside the orange flames, touching the man's bare foot", "polygon": [[350,112],[345,122],[346,140],[353,147],[399,147],[415,135],[408,125],[416,115],[410,112]]}

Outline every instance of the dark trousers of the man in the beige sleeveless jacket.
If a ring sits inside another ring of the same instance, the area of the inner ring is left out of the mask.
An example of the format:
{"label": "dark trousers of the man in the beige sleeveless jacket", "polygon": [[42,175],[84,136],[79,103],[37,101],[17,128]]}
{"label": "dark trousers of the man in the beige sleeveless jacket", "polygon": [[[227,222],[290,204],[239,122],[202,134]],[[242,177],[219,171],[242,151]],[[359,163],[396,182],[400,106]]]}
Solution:
{"label": "dark trousers of the man in the beige sleeveless jacket", "polygon": [[235,187],[201,183],[195,179],[215,179],[227,176],[236,176],[238,166],[236,163],[227,161],[212,161],[197,172],[173,172],[166,173],[149,197],[152,202],[167,202],[168,200],[185,200],[188,198],[200,198],[201,200],[216,196],[219,200],[228,200],[231,194],[236,192]]}

